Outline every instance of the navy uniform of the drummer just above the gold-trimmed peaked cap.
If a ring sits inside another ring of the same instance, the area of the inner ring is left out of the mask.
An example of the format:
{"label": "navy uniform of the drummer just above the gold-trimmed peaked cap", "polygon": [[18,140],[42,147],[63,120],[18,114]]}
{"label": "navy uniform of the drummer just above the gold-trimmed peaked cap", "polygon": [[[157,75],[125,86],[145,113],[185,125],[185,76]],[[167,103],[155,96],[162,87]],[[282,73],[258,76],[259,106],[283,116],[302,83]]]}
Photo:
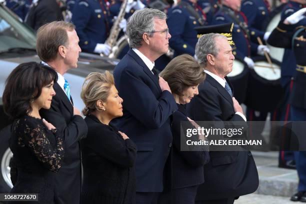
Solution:
{"label": "navy uniform of the drummer just above the gold-trimmed peaked cap", "polygon": [[248,27],[247,19],[241,11],[234,11],[226,5],[214,14],[211,24],[223,24],[233,22],[232,39],[236,44],[233,54],[236,58],[243,60],[245,56],[250,57],[251,54],[257,53],[258,44],[250,40],[250,33],[254,37],[262,37],[255,29]]}

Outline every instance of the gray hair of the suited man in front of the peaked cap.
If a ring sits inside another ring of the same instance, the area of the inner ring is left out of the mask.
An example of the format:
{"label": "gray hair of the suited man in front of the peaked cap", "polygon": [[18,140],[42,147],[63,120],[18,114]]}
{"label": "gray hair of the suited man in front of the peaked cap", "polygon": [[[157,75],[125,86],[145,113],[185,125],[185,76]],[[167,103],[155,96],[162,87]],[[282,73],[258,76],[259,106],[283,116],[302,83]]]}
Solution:
{"label": "gray hair of the suited man in front of the peaked cap", "polygon": [[208,33],[203,34],[196,42],[195,45],[195,55],[199,64],[206,66],[207,54],[212,54],[216,56],[219,52],[216,46],[216,38],[223,37],[227,39],[224,35],[219,33]]}

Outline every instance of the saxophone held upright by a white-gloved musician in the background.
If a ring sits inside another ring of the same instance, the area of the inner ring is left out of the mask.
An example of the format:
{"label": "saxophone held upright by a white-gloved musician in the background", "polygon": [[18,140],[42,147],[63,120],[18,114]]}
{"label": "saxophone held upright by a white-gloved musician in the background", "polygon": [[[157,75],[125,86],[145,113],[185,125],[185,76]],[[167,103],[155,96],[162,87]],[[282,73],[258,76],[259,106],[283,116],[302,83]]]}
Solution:
{"label": "saxophone held upright by a white-gloved musician in the background", "polygon": [[119,47],[117,46],[117,38],[121,30],[121,28],[119,27],[119,23],[124,18],[126,5],[127,5],[127,0],[123,0],[120,6],[120,11],[118,13],[117,19],[114,21],[110,29],[109,36],[104,42],[105,44],[111,47],[111,51],[108,55],[100,53],[101,56],[108,56],[109,58],[115,58],[118,55]]}

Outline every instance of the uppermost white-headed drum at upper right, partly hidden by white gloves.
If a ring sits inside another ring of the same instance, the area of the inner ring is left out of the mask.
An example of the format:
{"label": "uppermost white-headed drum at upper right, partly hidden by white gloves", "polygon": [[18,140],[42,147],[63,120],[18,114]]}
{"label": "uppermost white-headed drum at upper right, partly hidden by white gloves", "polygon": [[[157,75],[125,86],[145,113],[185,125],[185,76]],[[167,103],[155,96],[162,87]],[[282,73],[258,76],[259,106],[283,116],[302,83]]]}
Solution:
{"label": "uppermost white-headed drum at upper right, partly hidden by white gloves", "polygon": [[[269,16],[266,18],[265,22],[263,22],[262,24],[262,30],[265,30],[266,32],[267,31],[271,32],[275,27],[277,27],[277,24],[280,21],[281,10],[284,6],[285,6],[285,3],[277,6],[270,12]],[[277,61],[281,62],[284,48],[274,47],[269,44],[267,44],[267,47],[270,49],[270,53],[269,53],[270,56],[273,59],[276,59]]]}

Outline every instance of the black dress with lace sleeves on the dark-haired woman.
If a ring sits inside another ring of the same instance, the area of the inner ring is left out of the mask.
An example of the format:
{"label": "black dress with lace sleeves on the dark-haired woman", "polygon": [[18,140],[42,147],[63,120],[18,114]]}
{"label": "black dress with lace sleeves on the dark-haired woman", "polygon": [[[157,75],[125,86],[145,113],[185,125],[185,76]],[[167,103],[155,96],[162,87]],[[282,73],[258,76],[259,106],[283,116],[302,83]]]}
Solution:
{"label": "black dress with lace sleeves on the dark-haired woman", "polygon": [[14,120],[9,147],[17,167],[17,180],[10,193],[38,193],[38,202],[32,203],[54,203],[54,172],[64,154],[62,134],[48,130],[41,119],[26,115]]}

